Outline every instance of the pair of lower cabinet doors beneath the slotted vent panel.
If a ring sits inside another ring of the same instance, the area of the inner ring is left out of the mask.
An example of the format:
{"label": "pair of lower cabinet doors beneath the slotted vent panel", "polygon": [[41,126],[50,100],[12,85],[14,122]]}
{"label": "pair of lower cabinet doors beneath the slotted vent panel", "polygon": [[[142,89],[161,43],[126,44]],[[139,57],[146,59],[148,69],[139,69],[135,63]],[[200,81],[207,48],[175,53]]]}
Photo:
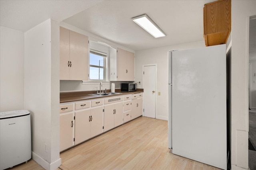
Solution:
{"label": "pair of lower cabinet doors beneath the slotted vent panel", "polygon": [[104,106],[104,132],[123,124],[123,103]]}

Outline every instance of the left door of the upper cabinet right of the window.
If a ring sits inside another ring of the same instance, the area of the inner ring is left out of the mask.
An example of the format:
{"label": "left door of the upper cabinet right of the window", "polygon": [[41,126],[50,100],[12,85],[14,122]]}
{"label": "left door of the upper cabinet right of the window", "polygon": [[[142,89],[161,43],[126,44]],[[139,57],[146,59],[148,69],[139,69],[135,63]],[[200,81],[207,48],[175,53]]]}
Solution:
{"label": "left door of the upper cabinet right of the window", "polygon": [[126,81],[126,50],[117,49],[117,80]]}

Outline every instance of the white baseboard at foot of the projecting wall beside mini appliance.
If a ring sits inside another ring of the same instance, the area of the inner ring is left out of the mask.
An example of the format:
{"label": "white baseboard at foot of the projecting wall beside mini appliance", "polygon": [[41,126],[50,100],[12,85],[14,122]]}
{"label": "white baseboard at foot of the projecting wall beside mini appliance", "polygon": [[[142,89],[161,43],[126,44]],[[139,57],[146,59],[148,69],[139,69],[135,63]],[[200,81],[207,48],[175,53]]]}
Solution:
{"label": "white baseboard at foot of the projecting wall beside mini appliance", "polygon": [[61,158],[52,163],[49,163],[35,152],[32,152],[32,159],[46,170],[56,170],[61,165]]}

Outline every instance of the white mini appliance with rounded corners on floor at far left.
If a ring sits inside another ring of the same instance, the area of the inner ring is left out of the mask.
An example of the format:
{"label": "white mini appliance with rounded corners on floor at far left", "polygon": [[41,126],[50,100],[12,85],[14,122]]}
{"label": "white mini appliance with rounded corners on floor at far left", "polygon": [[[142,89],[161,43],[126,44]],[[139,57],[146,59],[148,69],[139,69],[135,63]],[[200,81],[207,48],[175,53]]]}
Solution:
{"label": "white mini appliance with rounded corners on floor at far left", "polygon": [[0,170],[31,158],[30,113],[27,110],[0,113]]}

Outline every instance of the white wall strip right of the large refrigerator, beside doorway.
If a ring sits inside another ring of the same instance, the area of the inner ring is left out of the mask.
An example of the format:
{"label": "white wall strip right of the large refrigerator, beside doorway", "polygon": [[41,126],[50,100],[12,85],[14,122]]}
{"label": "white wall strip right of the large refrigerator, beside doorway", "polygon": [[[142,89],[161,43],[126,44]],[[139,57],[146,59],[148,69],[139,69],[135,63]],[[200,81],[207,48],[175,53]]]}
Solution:
{"label": "white wall strip right of the large refrigerator, beside doorway", "polygon": [[249,16],[256,1],[232,0],[231,168],[248,169],[248,50]]}

